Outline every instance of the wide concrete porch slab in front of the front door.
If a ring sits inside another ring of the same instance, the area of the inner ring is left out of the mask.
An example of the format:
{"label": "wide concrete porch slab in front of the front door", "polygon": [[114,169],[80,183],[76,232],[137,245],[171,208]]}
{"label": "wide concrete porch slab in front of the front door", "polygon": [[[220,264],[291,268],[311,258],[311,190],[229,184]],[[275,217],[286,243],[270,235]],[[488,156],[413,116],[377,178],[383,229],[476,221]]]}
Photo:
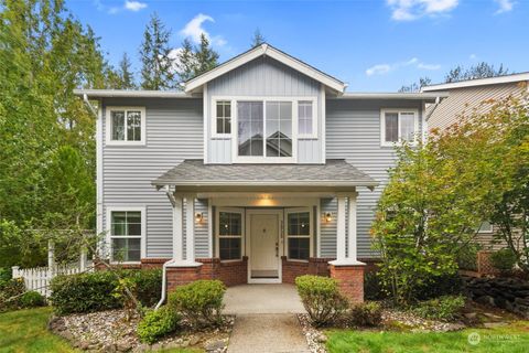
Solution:
{"label": "wide concrete porch slab in front of the front door", "polygon": [[305,312],[293,285],[242,285],[229,287],[224,296],[227,314]]}

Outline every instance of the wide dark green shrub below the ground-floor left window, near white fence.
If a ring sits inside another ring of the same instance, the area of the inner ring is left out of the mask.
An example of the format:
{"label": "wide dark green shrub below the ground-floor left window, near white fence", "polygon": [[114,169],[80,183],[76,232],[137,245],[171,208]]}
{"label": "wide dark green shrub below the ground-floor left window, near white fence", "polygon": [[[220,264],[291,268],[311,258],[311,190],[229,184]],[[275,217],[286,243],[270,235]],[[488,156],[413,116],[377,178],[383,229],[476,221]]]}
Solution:
{"label": "wide dark green shrub below the ground-floor left window, near white fence", "polygon": [[118,278],[110,271],[57,276],[52,280],[51,302],[60,315],[94,312],[121,307],[112,296]]}

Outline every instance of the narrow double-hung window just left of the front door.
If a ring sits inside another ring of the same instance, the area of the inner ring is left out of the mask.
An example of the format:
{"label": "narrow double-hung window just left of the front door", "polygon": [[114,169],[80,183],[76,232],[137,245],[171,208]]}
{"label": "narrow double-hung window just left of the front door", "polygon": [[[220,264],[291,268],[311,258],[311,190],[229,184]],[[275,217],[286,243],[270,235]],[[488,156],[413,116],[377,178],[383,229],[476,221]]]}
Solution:
{"label": "narrow double-hung window just left of the front door", "polygon": [[242,258],[242,212],[220,208],[217,213],[218,257],[220,260]]}

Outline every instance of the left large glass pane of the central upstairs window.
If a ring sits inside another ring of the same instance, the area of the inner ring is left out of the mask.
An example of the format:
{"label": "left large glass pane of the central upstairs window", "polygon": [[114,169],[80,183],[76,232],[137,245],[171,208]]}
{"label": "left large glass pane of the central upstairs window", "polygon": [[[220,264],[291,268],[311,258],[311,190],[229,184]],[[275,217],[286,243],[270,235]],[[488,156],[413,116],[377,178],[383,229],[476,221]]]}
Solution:
{"label": "left large glass pane of the central upstairs window", "polygon": [[238,101],[239,156],[263,156],[262,101]]}

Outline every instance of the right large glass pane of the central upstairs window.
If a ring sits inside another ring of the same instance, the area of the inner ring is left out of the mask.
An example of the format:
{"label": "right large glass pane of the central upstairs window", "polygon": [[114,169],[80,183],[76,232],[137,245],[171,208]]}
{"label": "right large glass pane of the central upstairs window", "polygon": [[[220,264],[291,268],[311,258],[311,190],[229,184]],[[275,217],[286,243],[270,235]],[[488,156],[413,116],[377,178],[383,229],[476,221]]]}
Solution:
{"label": "right large glass pane of the central upstairs window", "polygon": [[291,101],[267,101],[267,157],[292,157]]}

